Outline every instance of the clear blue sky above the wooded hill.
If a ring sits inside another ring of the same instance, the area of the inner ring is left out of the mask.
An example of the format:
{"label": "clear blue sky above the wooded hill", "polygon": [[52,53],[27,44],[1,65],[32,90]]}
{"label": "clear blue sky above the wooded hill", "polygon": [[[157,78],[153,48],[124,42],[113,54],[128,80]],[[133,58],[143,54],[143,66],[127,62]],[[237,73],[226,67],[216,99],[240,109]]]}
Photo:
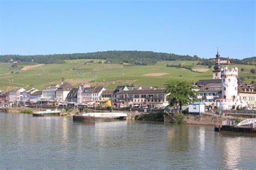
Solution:
{"label": "clear blue sky above the wooded hill", "polygon": [[1,55],[255,55],[255,1],[1,1]]}

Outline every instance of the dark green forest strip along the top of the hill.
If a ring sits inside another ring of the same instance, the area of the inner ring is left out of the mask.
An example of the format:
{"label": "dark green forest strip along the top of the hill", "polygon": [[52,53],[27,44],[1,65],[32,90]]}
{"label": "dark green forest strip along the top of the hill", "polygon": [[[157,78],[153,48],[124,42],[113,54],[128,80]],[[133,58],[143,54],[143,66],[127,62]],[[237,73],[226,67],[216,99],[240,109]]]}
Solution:
{"label": "dark green forest strip along the top of the hill", "polygon": [[[55,55],[1,55],[0,62],[31,62],[40,64],[65,63],[68,59],[104,59],[105,63],[131,64],[131,65],[154,65],[160,60],[192,60],[199,61],[200,65],[214,65],[215,58],[205,59],[198,56],[176,55],[174,53],[152,52],[152,51],[103,51],[73,54]],[[226,59],[226,58],[222,58]],[[256,65],[256,57],[245,59],[230,59],[233,64]]]}

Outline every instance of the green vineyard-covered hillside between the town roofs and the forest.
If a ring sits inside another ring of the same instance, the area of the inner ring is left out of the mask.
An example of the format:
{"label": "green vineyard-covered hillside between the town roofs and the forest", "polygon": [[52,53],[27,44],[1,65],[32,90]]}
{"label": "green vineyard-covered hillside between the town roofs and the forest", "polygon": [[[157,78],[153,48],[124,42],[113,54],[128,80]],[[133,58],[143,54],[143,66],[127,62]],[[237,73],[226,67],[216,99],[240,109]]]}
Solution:
{"label": "green vineyard-covered hillside between the town roofs and the forest", "polygon": [[[86,63],[94,60],[95,63]],[[164,86],[172,79],[187,80],[195,82],[199,79],[211,79],[212,70],[206,72],[192,72],[187,69],[177,69],[176,67],[166,67],[166,64],[193,65],[193,69],[207,69],[207,66],[196,65],[198,62],[191,61],[161,61],[156,65],[129,66],[118,64],[101,64],[99,59],[76,59],[66,60],[65,64],[45,64],[36,67],[29,67],[28,70],[11,69],[11,63],[0,63],[0,90],[12,90],[17,87],[35,87],[42,90],[47,84],[60,84],[70,82],[73,86],[80,83],[91,86],[105,85],[107,89],[117,85],[133,84],[136,86]],[[252,65],[237,65],[239,76],[246,80],[253,80],[250,70]],[[28,68],[28,67],[27,67]]]}

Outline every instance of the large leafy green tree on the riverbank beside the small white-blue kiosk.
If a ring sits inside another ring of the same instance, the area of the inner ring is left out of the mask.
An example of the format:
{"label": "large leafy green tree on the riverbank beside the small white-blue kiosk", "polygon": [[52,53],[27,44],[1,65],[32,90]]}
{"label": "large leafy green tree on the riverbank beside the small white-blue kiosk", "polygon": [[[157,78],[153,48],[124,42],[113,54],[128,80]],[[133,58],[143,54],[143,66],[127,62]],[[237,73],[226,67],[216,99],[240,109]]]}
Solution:
{"label": "large leafy green tree on the riverbank beside the small white-blue kiosk", "polygon": [[192,90],[192,85],[187,81],[172,80],[166,86],[165,92],[170,93],[167,96],[167,101],[171,106],[178,104],[180,110],[182,105],[198,100],[197,92]]}

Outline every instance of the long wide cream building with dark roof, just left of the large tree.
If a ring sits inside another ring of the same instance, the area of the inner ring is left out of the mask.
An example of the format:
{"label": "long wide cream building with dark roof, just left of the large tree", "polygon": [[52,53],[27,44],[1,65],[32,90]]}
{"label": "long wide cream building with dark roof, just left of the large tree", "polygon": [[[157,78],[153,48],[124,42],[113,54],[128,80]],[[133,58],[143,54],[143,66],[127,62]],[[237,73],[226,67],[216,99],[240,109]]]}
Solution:
{"label": "long wide cream building with dark roof, just left of the large tree", "polygon": [[167,95],[164,89],[120,91],[117,93],[116,106],[165,107],[169,105]]}

